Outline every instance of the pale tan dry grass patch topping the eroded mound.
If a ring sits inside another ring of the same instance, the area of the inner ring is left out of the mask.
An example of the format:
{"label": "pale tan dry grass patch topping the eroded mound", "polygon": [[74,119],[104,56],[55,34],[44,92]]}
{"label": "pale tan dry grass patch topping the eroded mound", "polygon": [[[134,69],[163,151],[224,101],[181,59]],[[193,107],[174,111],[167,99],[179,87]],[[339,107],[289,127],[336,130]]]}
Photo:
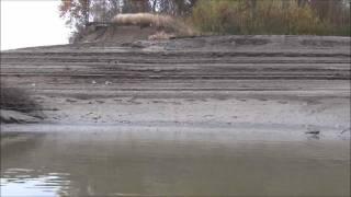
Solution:
{"label": "pale tan dry grass patch topping the eroded mound", "polygon": [[118,25],[138,25],[141,27],[156,27],[159,33],[150,38],[170,38],[174,36],[194,36],[196,32],[183,23],[169,15],[158,15],[150,13],[117,14],[112,19],[112,23]]}

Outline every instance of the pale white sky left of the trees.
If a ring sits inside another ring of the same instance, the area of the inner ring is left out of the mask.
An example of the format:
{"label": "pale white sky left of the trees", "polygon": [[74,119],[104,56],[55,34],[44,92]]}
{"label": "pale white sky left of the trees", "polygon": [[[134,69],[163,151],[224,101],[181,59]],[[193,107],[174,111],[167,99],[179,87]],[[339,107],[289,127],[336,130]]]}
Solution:
{"label": "pale white sky left of the trees", "polygon": [[1,50],[67,44],[70,30],[59,18],[60,0],[0,0]]}

